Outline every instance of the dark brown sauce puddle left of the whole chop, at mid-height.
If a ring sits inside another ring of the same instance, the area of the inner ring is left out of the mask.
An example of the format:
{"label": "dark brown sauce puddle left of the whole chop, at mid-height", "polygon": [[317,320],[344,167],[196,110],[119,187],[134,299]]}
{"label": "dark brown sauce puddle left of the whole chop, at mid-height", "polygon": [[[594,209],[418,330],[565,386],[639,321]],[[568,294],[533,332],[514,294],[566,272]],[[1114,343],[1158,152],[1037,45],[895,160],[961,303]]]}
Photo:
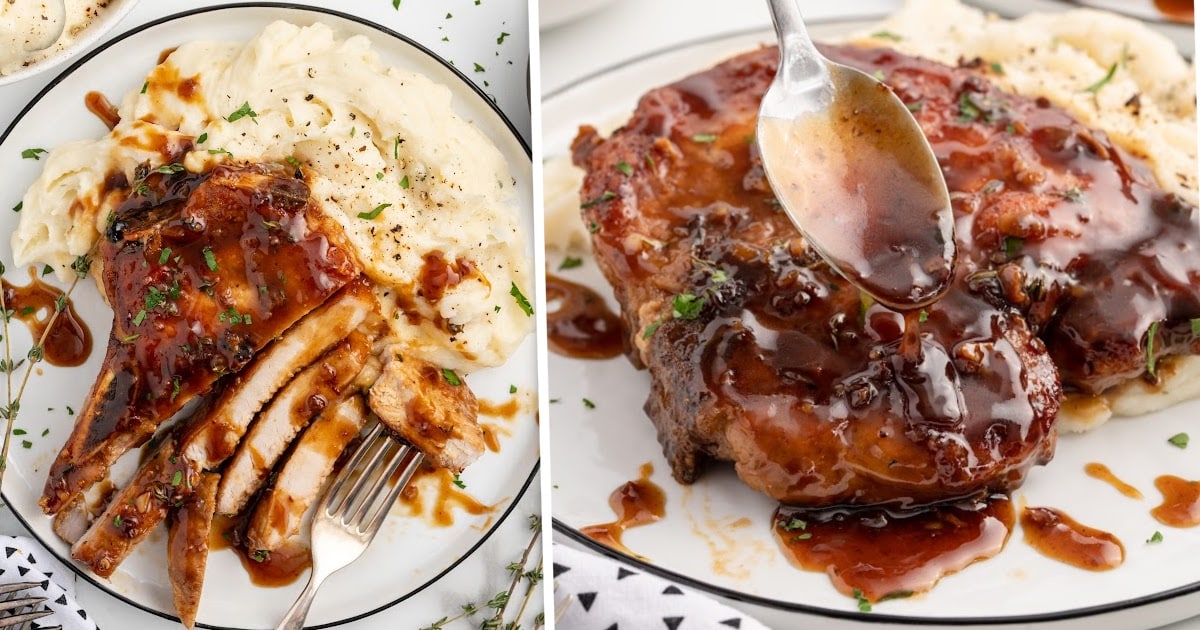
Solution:
{"label": "dark brown sauce puddle left of the whole chop, at mid-height", "polygon": [[575,359],[611,359],[624,352],[620,318],[599,293],[546,274],[546,301],[558,304],[546,314],[550,349]]}

